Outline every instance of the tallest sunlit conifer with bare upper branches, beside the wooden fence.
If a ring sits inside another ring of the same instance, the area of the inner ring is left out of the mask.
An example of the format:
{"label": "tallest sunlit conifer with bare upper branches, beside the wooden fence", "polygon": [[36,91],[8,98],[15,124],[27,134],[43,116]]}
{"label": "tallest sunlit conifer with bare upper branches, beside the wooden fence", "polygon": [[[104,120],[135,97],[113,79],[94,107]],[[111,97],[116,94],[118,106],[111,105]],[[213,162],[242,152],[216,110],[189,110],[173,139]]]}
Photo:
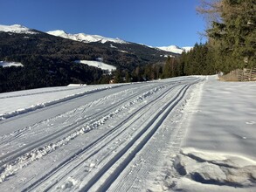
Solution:
{"label": "tallest sunlit conifer with bare upper branches, beside the wooden fence", "polygon": [[256,66],[255,0],[202,0],[198,11],[210,20],[206,32],[215,70]]}

